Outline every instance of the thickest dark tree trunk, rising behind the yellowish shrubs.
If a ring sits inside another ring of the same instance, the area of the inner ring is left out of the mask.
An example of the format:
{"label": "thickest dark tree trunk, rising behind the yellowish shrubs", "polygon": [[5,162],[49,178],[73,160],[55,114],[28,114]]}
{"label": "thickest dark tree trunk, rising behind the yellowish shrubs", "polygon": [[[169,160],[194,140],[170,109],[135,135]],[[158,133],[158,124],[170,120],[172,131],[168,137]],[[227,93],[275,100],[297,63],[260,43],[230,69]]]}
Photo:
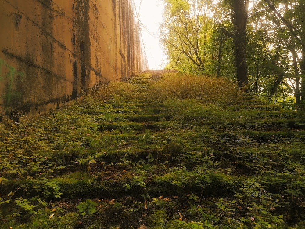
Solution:
{"label": "thickest dark tree trunk, rising behind the yellowish shrubs", "polygon": [[[238,86],[248,84],[246,62],[246,27],[248,21],[247,4],[244,0],[231,0],[233,11],[233,26],[235,31],[235,62]],[[247,0],[246,0],[247,1]]]}

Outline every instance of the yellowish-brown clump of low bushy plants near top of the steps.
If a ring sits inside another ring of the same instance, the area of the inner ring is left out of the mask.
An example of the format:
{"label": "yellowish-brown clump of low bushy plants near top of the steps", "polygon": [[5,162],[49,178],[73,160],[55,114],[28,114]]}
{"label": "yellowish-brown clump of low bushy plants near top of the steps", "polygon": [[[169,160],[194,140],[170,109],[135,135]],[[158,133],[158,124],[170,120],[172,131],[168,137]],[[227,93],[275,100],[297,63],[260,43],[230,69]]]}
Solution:
{"label": "yellowish-brown clump of low bushy plants near top of the steps", "polygon": [[151,86],[152,97],[160,99],[196,98],[207,103],[230,104],[241,99],[237,86],[224,78],[206,75],[168,74]]}

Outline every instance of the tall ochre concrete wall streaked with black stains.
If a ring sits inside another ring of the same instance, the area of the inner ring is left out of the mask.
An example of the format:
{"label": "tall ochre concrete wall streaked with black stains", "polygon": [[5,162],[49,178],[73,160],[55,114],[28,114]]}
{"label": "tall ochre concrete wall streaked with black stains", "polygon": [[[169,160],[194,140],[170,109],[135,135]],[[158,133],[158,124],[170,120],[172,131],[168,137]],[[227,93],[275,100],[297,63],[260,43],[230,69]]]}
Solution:
{"label": "tall ochre concrete wall streaked with black stains", "polygon": [[133,12],[132,0],[0,0],[1,116],[59,107],[148,69]]}

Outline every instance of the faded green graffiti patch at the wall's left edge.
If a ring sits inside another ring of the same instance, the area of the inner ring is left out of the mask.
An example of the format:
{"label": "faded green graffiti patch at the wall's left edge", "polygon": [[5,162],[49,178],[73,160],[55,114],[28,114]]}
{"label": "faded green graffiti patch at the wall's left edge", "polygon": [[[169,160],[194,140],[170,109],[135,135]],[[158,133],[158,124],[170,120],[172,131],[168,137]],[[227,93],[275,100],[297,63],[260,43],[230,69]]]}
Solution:
{"label": "faded green graffiti patch at the wall's left edge", "polygon": [[[2,75],[2,69],[5,71],[5,75]],[[12,105],[12,100],[20,100],[22,98],[22,93],[13,91],[14,78],[21,78],[24,76],[23,72],[17,71],[13,66],[10,66],[5,62],[5,60],[0,59],[0,81],[7,81],[6,89],[2,98],[5,104]]]}

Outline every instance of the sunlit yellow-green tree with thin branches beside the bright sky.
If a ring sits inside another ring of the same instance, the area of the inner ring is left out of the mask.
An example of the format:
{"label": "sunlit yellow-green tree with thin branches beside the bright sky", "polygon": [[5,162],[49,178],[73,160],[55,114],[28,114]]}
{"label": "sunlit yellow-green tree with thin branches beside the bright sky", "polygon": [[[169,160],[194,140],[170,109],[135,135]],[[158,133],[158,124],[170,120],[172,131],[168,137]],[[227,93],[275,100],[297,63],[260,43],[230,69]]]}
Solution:
{"label": "sunlit yellow-green tree with thin branches beside the bright sky", "polygon": [[210,4],[202,0],[164,0],[160,38],[171,68],[193,72],[206,69],[213,24]]}

